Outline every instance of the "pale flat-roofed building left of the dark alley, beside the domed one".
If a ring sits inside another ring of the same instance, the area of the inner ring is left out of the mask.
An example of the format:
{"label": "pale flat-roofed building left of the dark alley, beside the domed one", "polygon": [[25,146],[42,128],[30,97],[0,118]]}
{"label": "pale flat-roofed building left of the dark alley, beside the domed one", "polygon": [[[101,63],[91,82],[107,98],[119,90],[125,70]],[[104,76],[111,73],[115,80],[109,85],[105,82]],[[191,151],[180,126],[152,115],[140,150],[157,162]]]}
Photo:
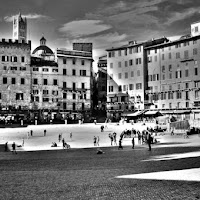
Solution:
{"label": "pale flat-roofed building left of the dark alley, beside the domed one", "polygon": [[93,108],[92,53],[77,50],[56,50],[59,87],[62,89],[60,109],[63,111],[87,113]]}

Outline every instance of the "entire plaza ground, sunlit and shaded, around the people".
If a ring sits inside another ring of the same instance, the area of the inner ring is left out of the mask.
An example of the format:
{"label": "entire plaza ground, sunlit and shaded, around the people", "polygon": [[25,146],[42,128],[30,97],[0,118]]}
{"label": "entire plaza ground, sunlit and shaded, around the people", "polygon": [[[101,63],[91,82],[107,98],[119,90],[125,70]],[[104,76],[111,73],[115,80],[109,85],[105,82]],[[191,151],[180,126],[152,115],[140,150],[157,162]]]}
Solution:
{"label": "entire plaza ground, sunlit and shaded, around the people", "polygon": [[[200,199],[200,137],[158,134],[148,151],[135,138],[123,150],[111,146],[109,133],[145,129],[141,124],[40,125],[0,130],[0,199]],[[47,130],[44,136],[44,130]],[[33,130],[33,135],[28,132]],[[72,132],[72,138],[70,138]],[[62,133],[70,150],[58,142]],[[99,136],[98,155],[93,137]],[[4,143],[24,147],[4,152]],[[57,142],[58,147],[51,147]]]}

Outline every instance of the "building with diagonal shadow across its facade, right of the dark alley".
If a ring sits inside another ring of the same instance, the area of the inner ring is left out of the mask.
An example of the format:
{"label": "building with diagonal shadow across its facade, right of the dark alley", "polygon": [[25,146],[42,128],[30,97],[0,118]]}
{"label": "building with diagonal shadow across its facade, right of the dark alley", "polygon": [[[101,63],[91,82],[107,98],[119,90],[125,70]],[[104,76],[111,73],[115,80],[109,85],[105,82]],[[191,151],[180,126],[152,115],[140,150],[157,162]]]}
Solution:
{"label": "building with diagonal shadow across its facade, right of the dark alley", "polygon": [[168,41],[166,38],[137,42],[107,49],[108,117],[120,118],[124,112],[146,106],[147,56],[145,48]]}

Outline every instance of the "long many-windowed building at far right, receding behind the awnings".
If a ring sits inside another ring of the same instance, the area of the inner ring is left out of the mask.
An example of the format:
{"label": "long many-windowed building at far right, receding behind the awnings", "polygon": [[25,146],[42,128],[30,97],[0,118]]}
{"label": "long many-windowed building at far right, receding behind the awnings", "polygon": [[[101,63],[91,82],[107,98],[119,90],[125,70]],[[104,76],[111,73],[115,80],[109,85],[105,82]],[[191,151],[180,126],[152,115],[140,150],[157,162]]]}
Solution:
{"label": "long many-windowed building at far right, receding behind the awnings", "polygon": [[191,34],[146,48],[150,109],[163,113],[190,113],[200,117],[200,22],[191,25]]}

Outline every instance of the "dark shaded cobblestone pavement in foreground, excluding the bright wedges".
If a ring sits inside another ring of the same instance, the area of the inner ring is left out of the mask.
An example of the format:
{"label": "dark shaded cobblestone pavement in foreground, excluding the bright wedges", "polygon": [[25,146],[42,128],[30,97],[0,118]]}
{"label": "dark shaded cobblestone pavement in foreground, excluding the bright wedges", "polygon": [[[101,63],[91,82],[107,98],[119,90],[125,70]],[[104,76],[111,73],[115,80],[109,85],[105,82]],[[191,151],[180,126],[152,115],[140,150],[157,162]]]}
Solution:
{"label": "dark shaded cobblestone pavement in foreground, excluding the bright wedges", "polygon": [[[170,145],[170,144],[168,144]],[[159,146],[159,145],[158,145]],[[121,175],[200,168],[200,157],[154,161],[169,154],[198,152],[196,147],[146,146],[0,152],[0,199],[200,199],[200,182],[120,179]],[[148,160],[148,162],[144,162]]]}

